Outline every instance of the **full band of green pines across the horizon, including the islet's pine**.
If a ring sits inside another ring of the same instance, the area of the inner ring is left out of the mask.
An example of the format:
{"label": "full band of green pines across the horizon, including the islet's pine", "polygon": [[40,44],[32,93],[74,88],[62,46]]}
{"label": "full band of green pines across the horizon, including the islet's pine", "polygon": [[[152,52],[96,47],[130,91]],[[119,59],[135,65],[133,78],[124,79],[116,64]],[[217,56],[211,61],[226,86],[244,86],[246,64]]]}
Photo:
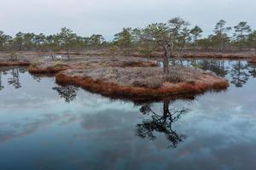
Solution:
{"label": "full band of green pines across the horizon, including the islet's pine", "polygon": [[[70,51],[108,48],[110,54],[117,52],[124,55],[137,52],[149,55],[161,51],[165,55],[166,65],[173,54],[184,51],[241,51],[251,50],[256,54],[256,31],[245,21],[237,26],[226,26],[225,20],[219,20],[212,34],[202,37],[200,26],[190,26],[181,18],[172,18],[166,23],[154,23],[144,28],[124,28],[114,35],[113,41],[106,41],[102,35],[80,37],[72,30],[61,28],[55,35],[43,33],[18,32],[15,37],[0,31],[0,51],[41,51],[54,54],[66,51],[69,59]],[[166,71],[167,71],[166,67]]]}

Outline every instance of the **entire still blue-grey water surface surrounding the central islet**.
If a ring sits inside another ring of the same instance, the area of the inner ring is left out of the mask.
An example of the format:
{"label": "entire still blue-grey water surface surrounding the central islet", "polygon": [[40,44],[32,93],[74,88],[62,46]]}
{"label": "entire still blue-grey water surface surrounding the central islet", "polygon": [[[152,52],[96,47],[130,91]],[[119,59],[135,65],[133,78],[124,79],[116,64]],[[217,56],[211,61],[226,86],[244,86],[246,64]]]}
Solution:
{"label": "entire still blue-grey water surface surrounding the central islet", "polygon": [[135,104],[0,69],[0,169],[256,168],[256,65],[190,60],[230,88]]}

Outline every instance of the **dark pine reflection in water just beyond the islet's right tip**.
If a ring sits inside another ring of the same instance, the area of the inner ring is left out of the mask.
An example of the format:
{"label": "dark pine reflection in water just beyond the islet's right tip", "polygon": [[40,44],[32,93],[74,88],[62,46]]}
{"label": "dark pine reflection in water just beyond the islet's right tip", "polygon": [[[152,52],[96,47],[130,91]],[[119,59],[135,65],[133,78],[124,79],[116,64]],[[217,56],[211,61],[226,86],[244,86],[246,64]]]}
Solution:
{"label": "dark pine reflection in water just beyond the islet's right tip", "polygon": [[244,65],[241,61],[236,61],[236,64],[232,66],[230,75],[232,77],[231,83],[235,84],[237,88],[241,88],[250,76],[247,73],[247,65]]}

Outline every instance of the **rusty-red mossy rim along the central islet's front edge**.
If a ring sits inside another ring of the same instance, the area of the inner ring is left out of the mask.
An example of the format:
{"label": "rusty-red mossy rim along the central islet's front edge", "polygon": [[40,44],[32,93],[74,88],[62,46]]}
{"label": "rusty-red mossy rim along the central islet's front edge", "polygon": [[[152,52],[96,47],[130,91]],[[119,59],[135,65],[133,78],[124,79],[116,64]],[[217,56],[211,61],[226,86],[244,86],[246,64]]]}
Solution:
{"label": "rusty-red mossy rim along the central islet's front edge", "polygon": [[180,82],[171,86],[170,83],[165,83],[156,89],[125,86],[118,83],[96,80],[92,77],[69,76],[65,74],[65,71],[55,75],[55,78],[57,83],[73,84],[85,88],[92,93],[134,100],[166,99],[182,94],[202,94],[207,90],[220,90],[229,86],[228,82],[217,77],[212,77],[211,81],[206,82]]}

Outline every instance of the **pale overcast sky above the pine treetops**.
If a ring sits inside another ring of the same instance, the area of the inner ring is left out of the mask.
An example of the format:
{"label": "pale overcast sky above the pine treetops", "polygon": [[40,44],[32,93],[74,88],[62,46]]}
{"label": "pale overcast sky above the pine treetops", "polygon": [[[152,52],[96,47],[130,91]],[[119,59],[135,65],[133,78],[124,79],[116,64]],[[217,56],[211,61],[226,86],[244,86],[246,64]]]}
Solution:
{"label": "pale overcast sky above the pine treetops", "polygon": [[0,0],[0,30],[53,34],[68,27],[80,36],[108,39],[123,27],[143,27],[172,17],[189,20],[205,34],[224,19],[245,20],[256,29],[256,0]]}

